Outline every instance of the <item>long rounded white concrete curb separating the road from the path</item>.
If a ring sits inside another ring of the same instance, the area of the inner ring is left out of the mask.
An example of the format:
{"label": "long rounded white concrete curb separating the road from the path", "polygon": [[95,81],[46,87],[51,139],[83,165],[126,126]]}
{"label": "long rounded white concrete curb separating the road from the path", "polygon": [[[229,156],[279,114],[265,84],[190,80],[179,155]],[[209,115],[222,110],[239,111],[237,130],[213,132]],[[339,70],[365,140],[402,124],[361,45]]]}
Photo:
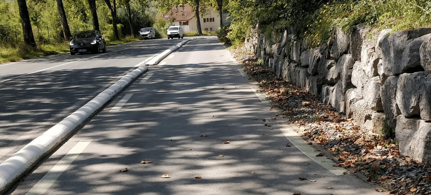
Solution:
{"label": "long rounded white concrete curb separating the road from the path", "polygon": [[[203,38],[191,38],[175,46],[172,46],[168,50],[160,53],[146,65],[157,65],[166,56],[177,50],[179,47],[184,45],[190,40],[203,39]],[[134,71],[122,77],[115,84],[111,85],[108,89],[99,93],[90,102],[79,108],[77,111],[69,115],[55,126],[51,127],[41,136],[37,137],[30,143],[20,149],[10,158],[6,159],[0,164],[0,194],[3,194],[9,187],[14,185],[18,180],[27,174],[37,162],[44,158],[47,154],[52,152],[57,145],[64,141],[69,135],[78,130],[85,123],[94,116],[98,111],[109,103],[110,100],[114,99],[119,93],[121,93],[129,84],[140,77],[142,74],[148,71],[148,67],[139,66]]]}

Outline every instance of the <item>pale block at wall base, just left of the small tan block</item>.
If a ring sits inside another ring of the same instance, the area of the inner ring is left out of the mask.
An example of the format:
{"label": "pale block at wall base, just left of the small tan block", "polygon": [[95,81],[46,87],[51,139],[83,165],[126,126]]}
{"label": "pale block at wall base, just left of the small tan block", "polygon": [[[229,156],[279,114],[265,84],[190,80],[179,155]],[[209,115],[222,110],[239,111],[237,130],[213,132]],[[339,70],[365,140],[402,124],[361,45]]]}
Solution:
{"label": "pale block at wall base, just left of the small tan block", "polygon": [[350,106],[351,118],[353,123],[361,127],[363,130],[372,130],[372,115],[375,111],[369,109],[368,103],[364,99],[360,99]]}

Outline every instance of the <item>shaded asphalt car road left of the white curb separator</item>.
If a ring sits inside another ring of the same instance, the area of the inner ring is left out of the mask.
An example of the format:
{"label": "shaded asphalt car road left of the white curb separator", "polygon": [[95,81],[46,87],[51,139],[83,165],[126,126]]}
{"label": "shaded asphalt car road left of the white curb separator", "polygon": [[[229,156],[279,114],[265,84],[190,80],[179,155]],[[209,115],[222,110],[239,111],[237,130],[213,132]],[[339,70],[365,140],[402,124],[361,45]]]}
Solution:
{"label": "shaded asphalt car road left of the white curb separator", "polygon": [[0,163],[129,73],[182,40],[143,40],[106,53],[69,53],[0,65]]}

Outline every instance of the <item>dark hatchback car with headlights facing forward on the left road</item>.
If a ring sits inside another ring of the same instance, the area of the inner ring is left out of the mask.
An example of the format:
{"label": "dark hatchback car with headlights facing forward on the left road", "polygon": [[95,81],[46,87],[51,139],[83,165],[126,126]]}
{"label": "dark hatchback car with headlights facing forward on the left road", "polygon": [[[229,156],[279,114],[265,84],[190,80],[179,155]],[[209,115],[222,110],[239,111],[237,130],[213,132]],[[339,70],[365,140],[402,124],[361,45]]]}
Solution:
{"label": "dark hatchback car with headlights facing forward on the left road", "polygon": [[102,37],[99,31],[80,31],[71,38],[70,55],[75,53],[99,53],[106,52],[105,38]]}

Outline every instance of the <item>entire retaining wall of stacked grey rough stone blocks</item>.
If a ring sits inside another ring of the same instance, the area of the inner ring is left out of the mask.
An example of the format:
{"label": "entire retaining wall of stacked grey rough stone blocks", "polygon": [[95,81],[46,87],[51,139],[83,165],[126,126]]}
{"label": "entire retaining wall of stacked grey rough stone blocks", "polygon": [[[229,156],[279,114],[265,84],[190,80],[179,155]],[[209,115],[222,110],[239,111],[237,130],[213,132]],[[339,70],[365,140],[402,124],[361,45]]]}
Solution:
{"label": "entire retaining wall of stacked grey rough stone blocks", "polygon": [[390,34],[361,24],[312,49],[288,30],[267,37],[257,28],[245,46],[278,76],[362,129],[395,130],[402,155],[431,160],[431,27]]}

